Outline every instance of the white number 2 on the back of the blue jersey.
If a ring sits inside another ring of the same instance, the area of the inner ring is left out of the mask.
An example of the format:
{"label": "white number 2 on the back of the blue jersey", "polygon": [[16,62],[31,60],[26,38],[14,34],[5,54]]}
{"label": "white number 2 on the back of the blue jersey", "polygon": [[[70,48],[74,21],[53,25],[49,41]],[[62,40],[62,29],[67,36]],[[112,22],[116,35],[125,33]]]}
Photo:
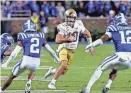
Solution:
{"label": "white number 2 on the back of the blue jersey", "polygon": [[31,53],[39,53],[39,48],[38,48],[39,39],[38,38],[32,38],[31,43],[33,43],[33,44],[30,45],[30,52]]}

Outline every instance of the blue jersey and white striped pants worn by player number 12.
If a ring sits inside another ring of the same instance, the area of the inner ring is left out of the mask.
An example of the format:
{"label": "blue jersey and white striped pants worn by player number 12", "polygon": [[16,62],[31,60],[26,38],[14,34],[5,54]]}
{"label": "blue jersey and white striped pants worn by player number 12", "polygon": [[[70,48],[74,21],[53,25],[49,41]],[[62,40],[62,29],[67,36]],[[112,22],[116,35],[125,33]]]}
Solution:
{"label": "blue jersey and white striped pants worn by player number 12", "polygon": [[116,70],[131,67],[131,26],[110,25],[106,33],[114,43],[116,53],[105,58],[101,64],[102,70],[114,68]]}

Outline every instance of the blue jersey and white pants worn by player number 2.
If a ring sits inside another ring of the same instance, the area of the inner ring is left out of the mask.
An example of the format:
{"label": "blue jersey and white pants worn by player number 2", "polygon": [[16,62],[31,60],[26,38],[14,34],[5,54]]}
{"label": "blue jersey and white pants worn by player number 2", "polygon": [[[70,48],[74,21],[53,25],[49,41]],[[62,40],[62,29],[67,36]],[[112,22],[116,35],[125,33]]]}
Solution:
{"label": "blue jersey and white pants worn by player number 2", "polygon": [[12,72],[17,76],[24,70],[36,71],[40,65],[41,48],[44,45],[44,33],[41,32],[21,32],[17,36],[18,41],[22,42],[23,57],[18,62]]}

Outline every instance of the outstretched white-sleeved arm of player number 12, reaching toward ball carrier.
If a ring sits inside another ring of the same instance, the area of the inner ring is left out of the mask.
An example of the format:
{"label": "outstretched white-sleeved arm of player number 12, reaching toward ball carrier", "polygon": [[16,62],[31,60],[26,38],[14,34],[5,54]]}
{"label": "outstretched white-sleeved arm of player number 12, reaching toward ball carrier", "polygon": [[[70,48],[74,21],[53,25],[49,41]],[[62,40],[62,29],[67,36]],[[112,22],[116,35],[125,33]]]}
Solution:
{"label": "outstretched white-sleeved arm of player number 12, reaching toward ball carrier", "polygon": [[110,39],[110,37],[107,34],[104,34],[100,39],[97,39],[96,41],[94,41],[93,43],[89,44],[86,46],[86,50],[89,50],[89,48],[96,47],[99,46],[101,44],[103,44],[103,42],[108,41]]}

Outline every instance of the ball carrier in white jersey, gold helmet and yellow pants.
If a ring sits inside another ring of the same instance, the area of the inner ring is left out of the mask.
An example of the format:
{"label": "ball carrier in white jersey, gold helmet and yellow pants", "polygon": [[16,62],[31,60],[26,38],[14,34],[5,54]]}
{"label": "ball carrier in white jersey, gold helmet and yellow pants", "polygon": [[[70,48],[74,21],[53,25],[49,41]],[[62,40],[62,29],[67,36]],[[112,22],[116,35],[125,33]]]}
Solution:
{"label": "ball carrier in white jersey, gold helmet and yellow pants", "polygon": [[[68,9],[65,12],[65,22],[57,26],[58,34],[56,35],[56,43],[60,44],[57,52],[61,61],[60,66],[57,69],[49,69],[46,76],[54,73],[54,78],[48,85],[50,89],[56,89],[55,82],[61,76],[64,75],[70,64],[74,52],[78,46],[80,33],[85,34],[88,38],[88,43],[92,43],[90,32],[84,27],[81,20],[77,20],[77,13],[74,9]],[[94,55],[93,47],[90,48],[90,52]]]}

